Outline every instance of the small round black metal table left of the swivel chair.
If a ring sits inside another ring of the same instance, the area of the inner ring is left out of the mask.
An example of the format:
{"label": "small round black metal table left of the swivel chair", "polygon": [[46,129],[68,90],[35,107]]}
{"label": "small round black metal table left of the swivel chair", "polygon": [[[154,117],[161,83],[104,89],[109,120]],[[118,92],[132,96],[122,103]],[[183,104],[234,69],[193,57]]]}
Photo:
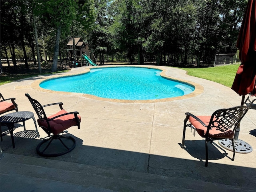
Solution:
{"label": "small round black metal table left of the swivel chair", "polygon": [[1,128],[1,141],[2,141],[2,136],[10,133],[11,138],[12,138],[12,146],[13,146],[13,148],[15,148],[14,137],[13,137],[13,131],[15,130],[14,124],[22,122],[24,131],[26,132],[25,121],[29,120],[31,118],[34,121],[37,136],[39,138],[39,133],[38,133],[37,126],[36,126],[36,119],[34,118],[34,113],[32,113],[30,111],[18,111],[18,112],[9,113],[9,114],[6,114],[6,115],[3,115],[0,117],[1,125],[6,125],[9,130],[2,134],[2,128]]}

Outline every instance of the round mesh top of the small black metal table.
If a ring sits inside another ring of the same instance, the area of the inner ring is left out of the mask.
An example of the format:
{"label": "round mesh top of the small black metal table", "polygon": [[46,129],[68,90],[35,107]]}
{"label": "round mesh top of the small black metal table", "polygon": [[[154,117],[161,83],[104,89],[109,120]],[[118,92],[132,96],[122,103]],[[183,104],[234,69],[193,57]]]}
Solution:
{"label": "round mesh top of the small black metal table", "polygon": [[18,111],[8,113],[0,117],[1,123],[18,123],[26,121],[34,117],[34,113],[30,111]]}

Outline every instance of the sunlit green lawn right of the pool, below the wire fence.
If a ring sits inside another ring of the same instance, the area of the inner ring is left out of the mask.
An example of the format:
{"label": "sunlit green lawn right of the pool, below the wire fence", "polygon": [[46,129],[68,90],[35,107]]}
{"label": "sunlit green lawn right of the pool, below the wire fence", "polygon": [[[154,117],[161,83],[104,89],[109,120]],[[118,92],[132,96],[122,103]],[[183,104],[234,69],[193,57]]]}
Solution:
{"label": "sunlit green lawn right of the pool, below the wire fence", "polygon": [[230,87],[233,84],[239,64],[209,68],[181,68],[190,76],[195,76]]}

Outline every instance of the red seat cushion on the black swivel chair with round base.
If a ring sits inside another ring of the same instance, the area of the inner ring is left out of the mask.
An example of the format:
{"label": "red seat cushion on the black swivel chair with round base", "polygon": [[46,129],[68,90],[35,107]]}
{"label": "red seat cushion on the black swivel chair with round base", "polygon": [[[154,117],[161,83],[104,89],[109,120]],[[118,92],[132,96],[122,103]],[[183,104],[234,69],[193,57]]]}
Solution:
{"label": "red seat cushion on the black swivel chair with round base", "polygon": [[[58,113],[51,115],[48,117],[48,119],[56,117],[58,115],[62,115],[67,113],[64,109],[59,111]],[[78,115],[78,118],[81,121],[81,117]],[[45,128],[48,128],[47,122],[46,120],[44,121],[40,121],[39,119],[37,120],[39,126],[43,126]],[[69,115],[64,115],[58,118],[55,118],[54,120],[49,121],[50,124],[50,130],[51,132],[56,135],[61,133],[62,131],[72,127],[72,126],[76,126],[77,122],[75,120],[75,116],[74,114],[69,114]]]}

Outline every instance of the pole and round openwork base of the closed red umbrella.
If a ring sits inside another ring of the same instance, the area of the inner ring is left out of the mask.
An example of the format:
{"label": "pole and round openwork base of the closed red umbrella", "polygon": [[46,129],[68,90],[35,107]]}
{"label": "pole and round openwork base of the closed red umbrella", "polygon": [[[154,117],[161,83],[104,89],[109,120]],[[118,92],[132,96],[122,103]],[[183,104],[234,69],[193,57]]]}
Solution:
{"label": "pole and round openwork base of the closed red umbrella", "polygon": [[[244,105],[244,99],[245,99],[245,95],[242,96],[241,105]],[[252,146],[250,146],[250,144],[244,142],[243,140],[238,139],[239,132],[240,132],[240,122],[235,128],[235,134],[234,134],[235,149],[234,150],[236,151],[236,153],[250,153],[250,152],[252,152]],[[222,140],[218,140],[218,143],[224,149],[233,151],[232,140],[222,139]]]}

